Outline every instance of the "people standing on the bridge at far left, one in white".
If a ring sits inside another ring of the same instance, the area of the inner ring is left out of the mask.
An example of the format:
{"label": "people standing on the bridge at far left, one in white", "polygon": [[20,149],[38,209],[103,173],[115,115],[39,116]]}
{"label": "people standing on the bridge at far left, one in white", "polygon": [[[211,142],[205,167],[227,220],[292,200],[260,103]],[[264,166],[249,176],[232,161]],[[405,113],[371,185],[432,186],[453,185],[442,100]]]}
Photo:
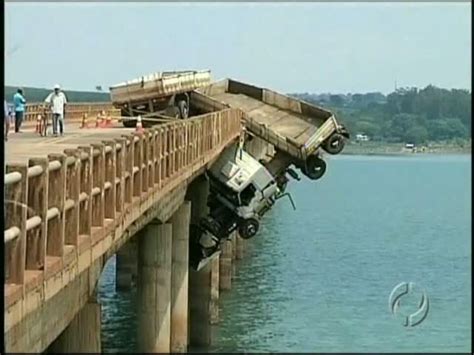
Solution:
{"label": "people standing on the bridge at far left, one in white", "polygon": [[[67,104],[66,95],[61,91],[59,85],[54,86],[54,91],[50,93],[44,102],[48,105],[48,108],[52,113],[52,127],[53,135],[64,134],[64,114]],[[22,89],[18,89],[15,95],[13,95],[13,105],[11,109],[7,104],[7,100],[4,102],[4,117],[5,117],[5,140],[8,140],[8,133],[10,131],[10,121],[14,119],[15,133],[21,133],[21,124],[25,115],[26,99]]]}

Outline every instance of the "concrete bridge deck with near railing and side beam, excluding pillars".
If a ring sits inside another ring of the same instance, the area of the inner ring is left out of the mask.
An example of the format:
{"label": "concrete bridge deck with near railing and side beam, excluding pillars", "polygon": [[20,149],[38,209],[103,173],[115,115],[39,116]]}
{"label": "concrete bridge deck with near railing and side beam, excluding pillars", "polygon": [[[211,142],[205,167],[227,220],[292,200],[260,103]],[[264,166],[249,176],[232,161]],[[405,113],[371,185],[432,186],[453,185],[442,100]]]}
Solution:
{"label": "concrete bridge deck with near railing and side beam, excluding pillars", "polygon": [[106,260],[151,221],[170,220],[188,184],[238,138],[241,119],[227,109],[143,134],[69,125],[64,137],[10,135],[6,351],[45,351],[94,295]]}

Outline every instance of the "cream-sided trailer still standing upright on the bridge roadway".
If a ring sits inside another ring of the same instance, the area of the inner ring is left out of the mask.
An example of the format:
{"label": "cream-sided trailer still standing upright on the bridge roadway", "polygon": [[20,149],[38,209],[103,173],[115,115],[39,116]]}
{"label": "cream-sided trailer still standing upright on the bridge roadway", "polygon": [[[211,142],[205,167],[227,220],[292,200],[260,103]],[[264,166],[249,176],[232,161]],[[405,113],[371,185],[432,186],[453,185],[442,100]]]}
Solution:
{"label": "cream-sided trailer still standing upright on the bridge roadway", "polygon": [[131,117],[122,119],[125,127],[135,127],[137,116],[150,125],[146,118],[188,118],[190,92],[210,82],[210,70],[156,72],[111,86],[110,97],[121,116]]}

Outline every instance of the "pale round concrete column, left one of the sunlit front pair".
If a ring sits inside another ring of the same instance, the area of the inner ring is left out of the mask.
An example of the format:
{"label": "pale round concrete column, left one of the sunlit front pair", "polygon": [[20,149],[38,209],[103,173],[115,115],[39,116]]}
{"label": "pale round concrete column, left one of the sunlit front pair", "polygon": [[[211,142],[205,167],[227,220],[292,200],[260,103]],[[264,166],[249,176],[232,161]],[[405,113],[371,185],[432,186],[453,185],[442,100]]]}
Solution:
{"label": "pale round concrete column, left one of the sunlit front pair", "polygon": [[138,351],[170,351],[171,224],[149,223],[138,239]]}

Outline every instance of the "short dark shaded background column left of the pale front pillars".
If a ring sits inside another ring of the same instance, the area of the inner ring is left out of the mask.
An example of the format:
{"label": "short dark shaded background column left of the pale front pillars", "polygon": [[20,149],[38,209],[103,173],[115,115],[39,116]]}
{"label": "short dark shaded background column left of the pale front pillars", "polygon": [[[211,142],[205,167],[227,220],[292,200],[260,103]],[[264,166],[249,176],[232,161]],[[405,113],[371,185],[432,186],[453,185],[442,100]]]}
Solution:
{"label": "short dark shaded background column left of the pale front pillars", "polygon": [[130,290],[136,285],[137,249],[137,236],[134,236],[117,251],[115,260],[115,288],[117,291]]}

